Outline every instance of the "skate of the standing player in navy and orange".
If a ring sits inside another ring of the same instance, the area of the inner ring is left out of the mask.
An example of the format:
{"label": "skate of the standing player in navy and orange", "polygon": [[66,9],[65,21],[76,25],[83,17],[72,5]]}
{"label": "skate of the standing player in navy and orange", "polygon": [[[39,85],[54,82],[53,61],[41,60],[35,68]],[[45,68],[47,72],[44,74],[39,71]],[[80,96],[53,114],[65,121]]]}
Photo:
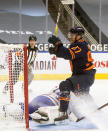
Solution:
{"label": "skate of the standing player in navy and orange", "polygon": [[69,123],[68,114],[67,112],[60,112],[60,116],[54,119],[54,123],[56,125],[66,125]]}

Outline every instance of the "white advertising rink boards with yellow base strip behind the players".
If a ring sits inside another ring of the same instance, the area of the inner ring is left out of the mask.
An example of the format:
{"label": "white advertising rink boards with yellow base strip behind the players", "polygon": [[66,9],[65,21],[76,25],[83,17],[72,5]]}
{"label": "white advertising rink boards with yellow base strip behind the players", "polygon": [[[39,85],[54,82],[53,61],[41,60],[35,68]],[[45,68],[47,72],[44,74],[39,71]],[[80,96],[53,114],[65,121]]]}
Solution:
{"label": "white advertising rink boards with yellow base strip behind the players", "polygon": [[[92,53],[94,65],[97,70],[96,79],[108,79],[108,53]],[[1,62],[2,63],[2,62]],[[6,67],[0,68],[0,81],[7,81]],[[48,52],[39,52],[33,67],[34,80],[65,80],[71,76],[70,63],[68,60],[50,55]],[[20,75],[19,79],[22,80]]]}

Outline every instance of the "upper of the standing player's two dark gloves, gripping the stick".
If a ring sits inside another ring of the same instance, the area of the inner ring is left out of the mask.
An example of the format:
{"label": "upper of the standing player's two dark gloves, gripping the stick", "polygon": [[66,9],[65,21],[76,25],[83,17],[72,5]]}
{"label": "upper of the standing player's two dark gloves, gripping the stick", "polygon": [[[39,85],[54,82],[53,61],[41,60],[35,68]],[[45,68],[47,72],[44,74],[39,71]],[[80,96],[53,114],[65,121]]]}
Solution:
{"label": "upper of the standing player's two dark gloves, gripping the stick", "polygon": [[54,46],[62,46],[63,45],[61,40],[54,35],[52,35],[52,37],[49,37],[48,42],[52,43]]}

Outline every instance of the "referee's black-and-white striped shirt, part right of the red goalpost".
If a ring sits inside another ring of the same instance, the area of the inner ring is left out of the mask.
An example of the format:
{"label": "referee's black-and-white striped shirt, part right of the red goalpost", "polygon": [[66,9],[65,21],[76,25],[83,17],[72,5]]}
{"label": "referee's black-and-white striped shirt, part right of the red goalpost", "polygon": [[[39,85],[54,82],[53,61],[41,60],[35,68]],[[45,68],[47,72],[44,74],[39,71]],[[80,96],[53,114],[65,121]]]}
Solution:
{"label": "referee's black-and-white striped shirt, part right of the red goalpost", "polygon": [[34,47],[34,48],[31,48],[30,46],[27,47],[27,63],[28,64],[33,65],[36,58],[37,50],[38,50],[37,47]]}

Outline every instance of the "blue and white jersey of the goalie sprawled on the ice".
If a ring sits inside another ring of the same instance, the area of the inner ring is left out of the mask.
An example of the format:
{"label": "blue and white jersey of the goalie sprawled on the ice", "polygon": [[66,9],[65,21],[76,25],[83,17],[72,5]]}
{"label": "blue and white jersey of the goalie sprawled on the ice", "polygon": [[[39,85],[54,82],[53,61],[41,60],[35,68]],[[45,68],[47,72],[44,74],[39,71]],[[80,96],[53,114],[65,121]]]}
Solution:
{"label": "blue and white jersey of the goalie sprawled on the ice", "polygon": [[35,97],[29,103],[29,114],[37,111],[40,107],[46,106],[59,106],[59,96],[60,90],[58,87],[55,87],[48,94],[42,94],[40,96]]}

